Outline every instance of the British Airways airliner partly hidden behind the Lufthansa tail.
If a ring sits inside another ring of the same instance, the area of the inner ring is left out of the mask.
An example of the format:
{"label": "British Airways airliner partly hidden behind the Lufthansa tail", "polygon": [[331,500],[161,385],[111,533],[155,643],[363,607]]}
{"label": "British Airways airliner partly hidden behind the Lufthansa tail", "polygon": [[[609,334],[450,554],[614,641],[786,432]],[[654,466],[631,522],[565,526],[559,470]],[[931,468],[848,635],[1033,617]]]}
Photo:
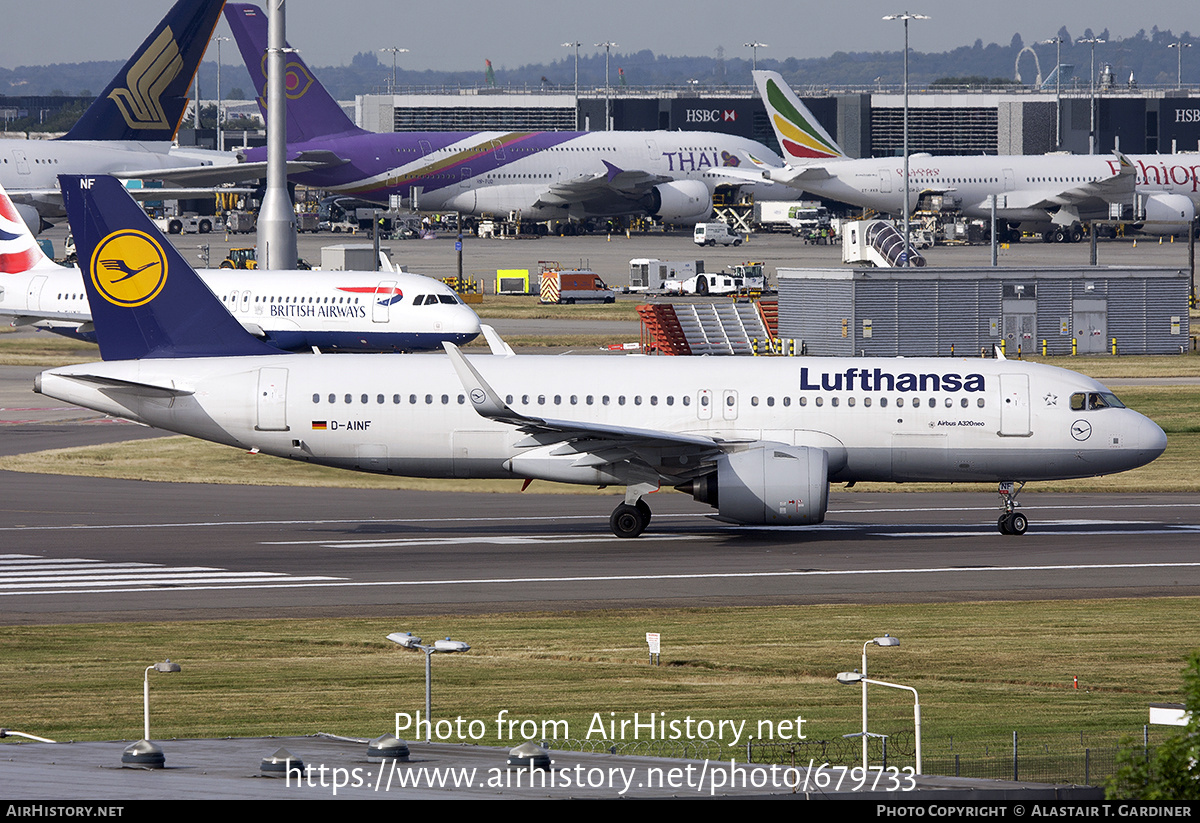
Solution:
{"label": "British Airways airliner partly hidden behind the Lufthansa tail", "polygon": [[[113,277],[140,272],[120,259],[97,262]],[[479,317],[443,283],[398,271],[234,271],[200,275],[226,311],[281,349],[415,352],[466,343]],[[79,269],[47,259],[0,188],[0,314],[95,342]]]}

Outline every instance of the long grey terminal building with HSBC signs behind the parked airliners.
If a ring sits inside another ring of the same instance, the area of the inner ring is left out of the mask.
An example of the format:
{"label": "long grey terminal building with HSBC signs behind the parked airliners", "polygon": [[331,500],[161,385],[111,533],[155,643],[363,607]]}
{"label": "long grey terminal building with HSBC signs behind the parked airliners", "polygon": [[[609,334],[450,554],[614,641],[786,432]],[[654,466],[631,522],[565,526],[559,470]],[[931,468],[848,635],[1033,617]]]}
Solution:
{"label": "long grey terminal building with HSBC signs behind the parked airliners", "polygon": [[[853,157],[902,154],[904,96],[896,91],[797,89],[822,125]],[[1105,89],[1096,95],[1099,152],[1200,151],[1200,92]],[[947,89],[910,95],[911,151],[934,155],[1088,152],[1092,98],[1086,88],[1002,92]],[[460,89],[360,95],[358,124],[374,132],[412,131],[716,131],[778,148],[767,112],[749,86],[653,89]]]}

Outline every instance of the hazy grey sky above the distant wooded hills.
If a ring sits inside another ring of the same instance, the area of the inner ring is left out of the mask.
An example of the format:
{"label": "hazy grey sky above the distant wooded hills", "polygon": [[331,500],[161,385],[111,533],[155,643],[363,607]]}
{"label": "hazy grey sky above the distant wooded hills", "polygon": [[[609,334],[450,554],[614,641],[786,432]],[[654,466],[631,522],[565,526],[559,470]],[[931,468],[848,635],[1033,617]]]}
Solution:
{"label": "hazy grey sky above the distant wooded hills", "polygon": [[[0,0],[0,66],[86,60],[124,60],[170,8],[170,0]],[[1073,6],[1074,8],[1069,8]],[[1079,7],[1082,8],[1079,8]],[[1079,8],[1079,11],[1076,11]],[[569,11],[568,11],[569,10]],[[613,41],[617,52],[650,49],[667,55],[749,56],[743,43],[770,48],[760,56],[828,56],[834,52],[900,50],[902,25],[880,19],[905,11],[892,0],[290,0],[288,40],[314,66],[343,65],[358,52],[410,49],[406,68],[470,71],[491,58],[497,68],[546,62],[571,54],[560,43]],[[1008,44],[1020,32],[1026,44],[1054,36],[1066,25],[1073,37],[1092,28],[1129,36],[1153,26],[1200,34],[1196,0],[913,0],[910,11],[932,19],[911,23],[914,50],[944,52],[984,43]],[[217,34],[228,35],[222,18]],[[232,48],[222,60],[235,60]],[[1050,48],[1050,47],[1045,47]],[[1200,61],[1200,48],[1183,59]],[[389,54],[379,54],[390,64]],[[216,60],[210,49],[209,60]]]}

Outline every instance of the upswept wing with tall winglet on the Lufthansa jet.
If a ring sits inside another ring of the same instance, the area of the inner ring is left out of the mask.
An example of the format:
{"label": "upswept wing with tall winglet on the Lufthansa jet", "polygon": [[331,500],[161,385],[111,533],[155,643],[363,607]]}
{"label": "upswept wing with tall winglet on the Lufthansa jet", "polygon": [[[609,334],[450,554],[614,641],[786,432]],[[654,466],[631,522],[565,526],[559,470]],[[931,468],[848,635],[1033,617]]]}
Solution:
{"label": "upswept wing with tall winglet on the Lufthansa jet", "polygon": [[480,416],[516,426],[529,434],[523,446],[559,444],[553,455],[578,455],[575,465],[600,468],[617,463],[636,463],[673,481],[695,476],[708,469],[718,455],[742,445],[744,440],[720,440],[703,434],[665,432],[630,426],[575,420],[533,417],[509,408],[500,396],[467,361],[458,347],[443,343],[462,380],[472,406]]}

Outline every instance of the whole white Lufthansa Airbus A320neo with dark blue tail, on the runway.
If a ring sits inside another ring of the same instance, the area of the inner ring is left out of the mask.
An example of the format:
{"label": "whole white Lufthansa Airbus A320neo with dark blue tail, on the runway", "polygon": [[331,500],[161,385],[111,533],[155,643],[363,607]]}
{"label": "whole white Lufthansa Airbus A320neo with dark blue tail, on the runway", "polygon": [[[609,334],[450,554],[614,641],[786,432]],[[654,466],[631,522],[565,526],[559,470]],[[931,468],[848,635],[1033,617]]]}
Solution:
{"label": "whole white Lufthansa Airbus A320neo with dark blue tail, on the runway", "polygon": [[646,529],[662,485],[721,519],[785,525],[822,522],[829,482],[858,480],[997,481],[997,525],[1022,534],[1015,483],[1166,447],[1096,380],[1010,360],[283,354],[245,334],[115,180],[64,176],[62,191],[104,362],[47,370],[36,391],[361,471],[623,485],[622,537]]}

